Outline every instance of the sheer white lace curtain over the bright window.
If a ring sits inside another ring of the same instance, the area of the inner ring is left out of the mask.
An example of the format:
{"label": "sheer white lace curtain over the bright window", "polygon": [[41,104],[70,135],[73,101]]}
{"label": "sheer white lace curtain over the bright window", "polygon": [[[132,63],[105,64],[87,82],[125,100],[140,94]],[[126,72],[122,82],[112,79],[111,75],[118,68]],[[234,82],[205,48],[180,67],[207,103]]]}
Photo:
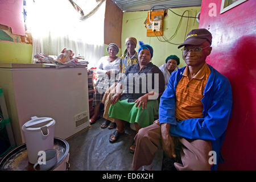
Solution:
{"label": "sheer white lace curtain over the bright window", "polygon": [[[89,61],[88,68],[97,65],[104,54],[105,2],[96,13],[83,21],[68,0],[27,2],[30,2],[27,3],[26,22],[32,34],[32,57],[36,53],[59,55],[67,47],[75,56],[85,56],[85,60]],[[89,0],[85,5],[93,9],[97,4]]]}

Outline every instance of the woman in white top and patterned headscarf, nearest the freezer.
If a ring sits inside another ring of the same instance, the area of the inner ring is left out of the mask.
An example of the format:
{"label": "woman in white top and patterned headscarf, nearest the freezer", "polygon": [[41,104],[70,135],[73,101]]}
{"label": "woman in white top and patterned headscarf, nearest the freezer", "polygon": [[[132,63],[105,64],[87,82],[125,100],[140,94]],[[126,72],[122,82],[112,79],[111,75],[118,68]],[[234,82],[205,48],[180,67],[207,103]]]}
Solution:
{"label": "woman in white top and patterned headscarf, nearest the freezer", "polygon": [[106,89],[113,85],[116,76],[119,73],[120,57],[116,56],[119,49],[114,43],[109,44],[107,51],[108,56],[101,57],[96,72],[98,73],[98,81],[96,83],[95,92],[93,95],[94,114],[90,118],[90,123],[93,124],[100,117],[100,104]]}

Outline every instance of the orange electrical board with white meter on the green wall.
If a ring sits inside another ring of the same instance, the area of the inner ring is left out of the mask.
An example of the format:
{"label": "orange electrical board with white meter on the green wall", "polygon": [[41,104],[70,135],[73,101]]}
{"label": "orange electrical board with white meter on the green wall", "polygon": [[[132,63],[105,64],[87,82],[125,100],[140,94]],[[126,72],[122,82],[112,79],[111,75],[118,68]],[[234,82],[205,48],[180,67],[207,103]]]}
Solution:
{"label": "orange electrical board with white meter on the green wall", "polygon": [[145,21],[147,36],[163,36],[163,18],[164,10],[147,13],[147,20]]}

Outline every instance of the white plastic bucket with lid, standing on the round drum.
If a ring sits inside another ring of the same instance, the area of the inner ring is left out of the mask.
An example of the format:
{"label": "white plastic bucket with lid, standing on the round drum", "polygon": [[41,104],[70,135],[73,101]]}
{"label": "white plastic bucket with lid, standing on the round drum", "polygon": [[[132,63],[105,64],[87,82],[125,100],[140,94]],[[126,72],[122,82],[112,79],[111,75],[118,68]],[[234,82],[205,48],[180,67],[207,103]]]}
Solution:
{"label": "white plastic bucket with lid, standing on the round drum", "polygon": [[38,152],[53,148],[55,120],[48,117],[31,117],[31,120],[22,126],[26,141],[28,162],[38,162]]}

